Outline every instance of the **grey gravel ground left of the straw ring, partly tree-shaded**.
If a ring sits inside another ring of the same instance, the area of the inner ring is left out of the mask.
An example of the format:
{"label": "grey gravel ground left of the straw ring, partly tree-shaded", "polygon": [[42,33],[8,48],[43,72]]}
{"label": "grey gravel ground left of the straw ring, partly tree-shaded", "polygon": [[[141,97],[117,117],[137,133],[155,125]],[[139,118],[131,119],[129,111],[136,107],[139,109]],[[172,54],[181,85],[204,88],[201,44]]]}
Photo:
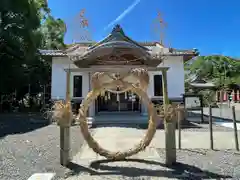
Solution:
{"label": "grey gravel ground left of the straw ring, partly tree-shaded", "polygon": [[[59,163],[59,128],[32,124],[28,117],[24,118],[0,116],[0,179],[27,180],[32,174],[43,172],[55,172],[54,179],[63,178],[68,169]],[[73,126],[72,155],[82,143],[80,128]]]}

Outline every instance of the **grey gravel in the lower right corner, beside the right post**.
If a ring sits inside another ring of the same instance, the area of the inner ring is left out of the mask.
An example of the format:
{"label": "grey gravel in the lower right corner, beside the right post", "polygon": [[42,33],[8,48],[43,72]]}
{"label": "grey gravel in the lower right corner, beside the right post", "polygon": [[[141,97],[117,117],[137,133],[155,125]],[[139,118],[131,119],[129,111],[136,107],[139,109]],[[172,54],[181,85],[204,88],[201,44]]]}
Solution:
{"label": "grey gravel in the lower right corner, beside the right post", "polygon": [[[165,150],[158,149],[158,153],[164,159]],[[173,170],[187,179],[240,179],[240,153],[236,151],[178,150],[177,161]]]}

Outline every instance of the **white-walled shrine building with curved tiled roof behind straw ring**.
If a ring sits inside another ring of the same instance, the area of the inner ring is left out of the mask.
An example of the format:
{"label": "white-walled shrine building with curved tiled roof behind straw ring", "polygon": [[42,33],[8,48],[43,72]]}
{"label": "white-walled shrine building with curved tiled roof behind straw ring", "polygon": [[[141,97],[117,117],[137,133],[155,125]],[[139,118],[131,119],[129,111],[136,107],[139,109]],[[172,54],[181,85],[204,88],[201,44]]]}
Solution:
{"label": "white-walled shrine building with curved tiled roof behind straw ring", "polygon": [[[184,62],[198,55],[196,49],[178,50],[157,42],[136,42],[128,37],[120,25],[102,41],[85,42],[69,46],[66,50],[41,50],[43,56],[52,57],[52,100],[66,98],[66,71],[70,71],[70,96],[79,107],[91,91],[91,75],[106,70],[131,70],[147,68],[149,85],[147,93],[152,101],[162,101],[162,76],[160,67],[168,67],[167,87],[170,101],[181,102],[184,89]],[[118,89],[116,89],[118,91]],[[141,99],[131,93],[107,91],[99,96],[89,109],[95,116],[108,112],[135,112],[146,114]]]}

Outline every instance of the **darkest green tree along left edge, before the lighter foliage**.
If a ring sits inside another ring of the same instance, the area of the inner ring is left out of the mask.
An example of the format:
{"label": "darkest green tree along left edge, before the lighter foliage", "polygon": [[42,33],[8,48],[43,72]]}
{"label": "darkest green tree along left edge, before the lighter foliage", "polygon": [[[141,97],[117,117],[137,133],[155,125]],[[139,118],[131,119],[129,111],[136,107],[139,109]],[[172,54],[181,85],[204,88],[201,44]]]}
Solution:
{"label": "darkest green tree along left edge, before the lighter foliage", "polygon": [[35,56],[40,19],[33,1],[3,0],[0,8],[1,92],[13,91],[24,81],[24,70]]}

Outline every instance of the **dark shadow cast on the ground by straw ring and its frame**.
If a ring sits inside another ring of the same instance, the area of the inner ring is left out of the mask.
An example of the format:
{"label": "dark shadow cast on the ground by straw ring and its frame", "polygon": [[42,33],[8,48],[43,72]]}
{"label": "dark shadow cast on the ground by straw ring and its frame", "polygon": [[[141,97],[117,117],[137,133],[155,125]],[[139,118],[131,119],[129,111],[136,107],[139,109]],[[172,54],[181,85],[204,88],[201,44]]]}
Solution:
{"label": "dark shadow cast on the ground by straw ring and its frame", "polygon": [[[121,167],[121,166],[110,166],[104,165],[104,163],[116,162],[111,160],[99,160],[93,161],[90,164],[90,167],[83,167],[81,165],[70,163],[68,168],[71,170],[71,174],[68,176],[78,175],[82,172],[87,172],[90,175],[121,175],[127,177],[139,177],[139,176],[150,176],[150,177],[165,177],[165,178],[178,178],[178,179],[225,179],[232,178],[230,176],[225,176],[221,174],[216,174],[213,172],[201,170],[198,167],[190,166],[183,163],[176,163],[171,167],[167,167],[165,164],[158,161],[147,161],[142,159],[126,159],[127,162],[138,162],[145,163],[149,165],[157,165],[163,167],[162,169],[153,170],[153,169],[143,169],[137,167]],[[166,170],[164,170],[164,168]],[[105,172],[99,172],[105,171]]]}

